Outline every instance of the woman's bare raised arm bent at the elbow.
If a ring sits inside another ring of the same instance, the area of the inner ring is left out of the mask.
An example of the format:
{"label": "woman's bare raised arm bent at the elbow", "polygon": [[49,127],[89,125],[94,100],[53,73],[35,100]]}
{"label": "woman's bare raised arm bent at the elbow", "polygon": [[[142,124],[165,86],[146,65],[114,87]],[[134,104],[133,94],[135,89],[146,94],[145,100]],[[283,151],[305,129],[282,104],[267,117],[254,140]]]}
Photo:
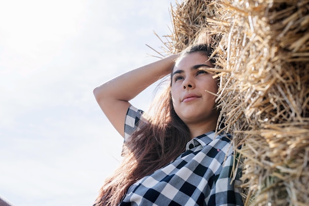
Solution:
{"label": "woman's bare raised arm bent at the elbow", "polygon": [[124,136],[124,121],[129,101],[158,79],[168,75],[178,55],[126,72],[93,90],[96,101],[109,121]]}

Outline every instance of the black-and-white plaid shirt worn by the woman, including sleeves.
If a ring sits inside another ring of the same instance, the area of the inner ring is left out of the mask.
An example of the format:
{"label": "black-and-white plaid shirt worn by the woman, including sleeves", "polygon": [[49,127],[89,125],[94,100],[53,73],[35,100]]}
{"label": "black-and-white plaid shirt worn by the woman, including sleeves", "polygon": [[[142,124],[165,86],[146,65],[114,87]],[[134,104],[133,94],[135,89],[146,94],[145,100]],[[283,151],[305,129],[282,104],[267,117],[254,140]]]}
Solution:
{"label": "black-and-white plaid shirt worn by the woman, including sleeves", "polygon": [[[145,122],[142,114],[130,106],[125,139]],[[214,132],[193,138],[175,161],[134,183],[120,206],[242,206],[241,170],[231,177],[236,160],[230,139]]]}

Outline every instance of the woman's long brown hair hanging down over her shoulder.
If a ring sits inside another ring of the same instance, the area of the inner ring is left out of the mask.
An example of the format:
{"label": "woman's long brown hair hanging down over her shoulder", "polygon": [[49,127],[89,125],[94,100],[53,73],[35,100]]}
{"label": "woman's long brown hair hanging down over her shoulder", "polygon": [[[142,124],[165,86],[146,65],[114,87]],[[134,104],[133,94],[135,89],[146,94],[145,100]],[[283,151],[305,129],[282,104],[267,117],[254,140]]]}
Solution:
{"label": "woman's long brown hair hanging down over her shoulder", "polygon": [[[209,42],[189,47],[184,53],[211,54]],[[147,118],[139,131],[124,143],[124,158],[118,169],[107,178],[94,206],[118,205],[128,188],[137,180],[169,164],[185,151],[191,139],[187,125],[176,114],[171,85],[168,84],[152,105],[154,115]]]}

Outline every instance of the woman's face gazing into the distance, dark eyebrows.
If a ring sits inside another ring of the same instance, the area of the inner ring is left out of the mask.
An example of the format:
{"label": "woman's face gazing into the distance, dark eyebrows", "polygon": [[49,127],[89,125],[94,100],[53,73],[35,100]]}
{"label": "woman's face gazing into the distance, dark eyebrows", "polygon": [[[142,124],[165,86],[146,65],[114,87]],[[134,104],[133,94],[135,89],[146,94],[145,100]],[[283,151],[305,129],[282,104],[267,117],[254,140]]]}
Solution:
{"label": "woman's face gazing into the distance, dark eyebrows", "polygon": [[[172,71],[171,95],[176,114],[185,124],[203,124],[218,118],[214,109],[218,82],[208,57],[200,52],[187,53],[177,60]],[[208,92],[209,91],[209,92]]]}

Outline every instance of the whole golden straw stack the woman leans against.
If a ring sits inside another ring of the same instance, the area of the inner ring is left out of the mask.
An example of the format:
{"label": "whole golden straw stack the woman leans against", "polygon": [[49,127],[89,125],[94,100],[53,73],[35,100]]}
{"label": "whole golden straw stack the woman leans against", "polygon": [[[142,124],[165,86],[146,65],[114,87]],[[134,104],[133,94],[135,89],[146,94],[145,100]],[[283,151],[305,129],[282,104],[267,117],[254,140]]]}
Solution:
{"label": "whole golden straw stack the woman leans against", "polygon": [[245,205],[309,206],[309,0],[183,0],[167,54],[220,36],[218,106],[243,158]]}

